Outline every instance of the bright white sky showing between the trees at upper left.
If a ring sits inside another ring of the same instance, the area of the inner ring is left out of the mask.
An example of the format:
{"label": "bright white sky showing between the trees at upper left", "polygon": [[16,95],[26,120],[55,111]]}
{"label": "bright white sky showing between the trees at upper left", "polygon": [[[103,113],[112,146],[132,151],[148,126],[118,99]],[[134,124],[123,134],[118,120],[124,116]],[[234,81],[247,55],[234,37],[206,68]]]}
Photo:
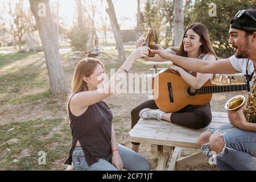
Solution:
{"label": "bright white sky showing between the trees at upper left", "polygon": [[[9,2],[13,5],[19,0],[0,0],[0,10],[2,11],[2,4],[5,3],[7,6]],[[57,0],[50,0],[56,2]],[[82,0],[84,1],[84,0]],[[88,0],[86,0],[88,1]],[[102,0],[104,3],[101,3],[101,0],[92,0],[93,3],[97,3],[97,10],[105,12],[105,6],[108,6],[105,0]],[[112,0],[115,8],[115,14],[117,15],[118,23],[120,24],[121,30],[123,29],[133,29],[136,27],[136,14],[137,14],[137,0]],[[73,24],[73,15],[76,11],[75,0],[59,0],[60,2],[60,16],[63,17],[64,22],[68,24],[69,27],[72,27]],[[24,6],[30,7],[29,1],[24,0]],[[8,6],[7,6],[8,7]],[[14,7],[14,6],[13,6]],[[106,14],[105,14],[106,15]],[[96,15],[96,22],[99,24],[100,16]]]}

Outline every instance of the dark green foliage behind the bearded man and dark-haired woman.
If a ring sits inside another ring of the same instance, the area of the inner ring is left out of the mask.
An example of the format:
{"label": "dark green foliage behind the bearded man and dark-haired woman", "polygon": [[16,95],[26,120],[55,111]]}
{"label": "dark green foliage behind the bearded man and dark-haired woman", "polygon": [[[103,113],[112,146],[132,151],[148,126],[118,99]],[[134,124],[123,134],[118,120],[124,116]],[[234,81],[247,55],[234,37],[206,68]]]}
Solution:
{"label": "dark green foliage behind the bearded man and dark-haired woman", "polygon": [[[216,4],[217,16],[209,16],[209,10],[212,8],[209,7],[210,3]],[[230,20],[238,10],[255,6],[255,0],[196,0],[194,5],[190,4],[184,11],[184,27],[196,22],[205,24],[217,55],[229,57],[233,55],[233,49],[228,43]]]}

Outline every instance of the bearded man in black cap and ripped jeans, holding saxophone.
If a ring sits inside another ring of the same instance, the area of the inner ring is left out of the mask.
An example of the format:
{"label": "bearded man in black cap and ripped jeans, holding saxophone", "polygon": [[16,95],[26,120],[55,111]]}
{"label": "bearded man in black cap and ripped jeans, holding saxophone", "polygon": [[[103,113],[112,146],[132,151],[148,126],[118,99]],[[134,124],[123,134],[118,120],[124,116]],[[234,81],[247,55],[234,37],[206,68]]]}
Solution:
{"label": "bearded man in black cap and ripped jeans, holding saxophone", "polygon": [[[160,57],[175,64],[200,73],[233,74],[242,72],[247,80],[247,89],[253,86],[256,68],[256,9],[240,10],[230,21],[229,43],[235,55],[218,61],[202,61],[188,57],[171,55],[161,46]],[[171,67],[176,70],[177,65]],[[205,131],[199,137],[198,144],[208,158],[216,159],[220,170],[256,170],[256,123],[247,122],[243,109],[228,111],[230,124],[214,130]],[[254,119],[256,121],[256,118]],[[213,160],[214,161],[214,160]]]}

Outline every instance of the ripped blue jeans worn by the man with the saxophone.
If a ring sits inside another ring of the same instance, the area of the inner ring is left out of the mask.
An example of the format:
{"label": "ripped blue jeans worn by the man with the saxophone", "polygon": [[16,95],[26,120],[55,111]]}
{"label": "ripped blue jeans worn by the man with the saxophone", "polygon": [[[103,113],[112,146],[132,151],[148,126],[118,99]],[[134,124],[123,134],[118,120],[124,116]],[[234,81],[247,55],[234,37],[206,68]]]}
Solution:
{"label": "ripped blue jeans worn by the man with the saxophone", "polygon": [[221,131],[225,147],[214,155],[210,151],[209,143],[203,144],[201,150],[208,158],[216,159],[216,166],[220,170],[256,170],[256,133],[243,131],[231,124],[210,130],[210,132]]}

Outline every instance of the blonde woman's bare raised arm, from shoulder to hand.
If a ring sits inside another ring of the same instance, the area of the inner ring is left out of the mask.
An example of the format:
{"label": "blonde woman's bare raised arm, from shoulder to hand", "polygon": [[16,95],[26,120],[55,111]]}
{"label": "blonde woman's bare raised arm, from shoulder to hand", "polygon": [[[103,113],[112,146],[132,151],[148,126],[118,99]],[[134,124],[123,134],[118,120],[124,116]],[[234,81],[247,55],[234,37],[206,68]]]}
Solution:
{"label": "blonde woman's bare raised arm, from shoulder to hand", "polygon": [[149,49],[150,48],[148,47],[137,48],[136,51],[131,53],[125,63],[123,63],[123,65],[118,69],[115,75],[110,78],[109,82],[105,86],[92,91],[76,93],[72,97],[71,105],[75,106],[76,109],[85,109],[89,105],[96,104],[97,102],[109,97],[110,94],[115,91],[115,85],[122,81],[122,79],[120,79],[120,74],[126,74],[126,71],[130,70],[135,60],[140,59],[142,56],[147,56]]}

